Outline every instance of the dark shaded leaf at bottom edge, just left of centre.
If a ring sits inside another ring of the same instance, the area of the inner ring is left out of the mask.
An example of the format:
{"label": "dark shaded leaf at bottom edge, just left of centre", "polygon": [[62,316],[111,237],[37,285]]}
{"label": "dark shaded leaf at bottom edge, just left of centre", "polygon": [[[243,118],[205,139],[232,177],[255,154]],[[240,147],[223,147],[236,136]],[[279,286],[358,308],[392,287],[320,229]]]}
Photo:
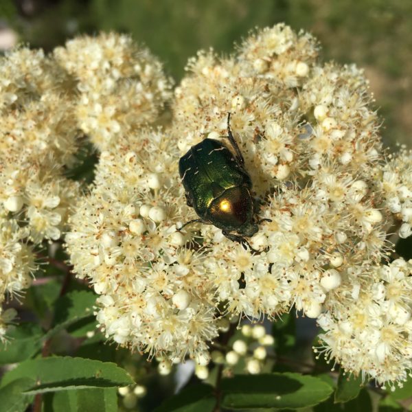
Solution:
{"label": "dark shaded leaf at bottom edge, just left of centre", "polygon": [[211,412],[216,406],[213,391],[210,385],[191,385],[166,399],[155,412]]}

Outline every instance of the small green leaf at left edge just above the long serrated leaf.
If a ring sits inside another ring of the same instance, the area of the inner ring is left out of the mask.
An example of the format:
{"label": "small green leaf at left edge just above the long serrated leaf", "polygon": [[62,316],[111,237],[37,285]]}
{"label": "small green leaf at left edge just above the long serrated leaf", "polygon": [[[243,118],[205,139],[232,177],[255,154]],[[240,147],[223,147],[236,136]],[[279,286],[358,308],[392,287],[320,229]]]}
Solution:
{"label": "small green leaf at left edge just above the long serrated leaf", "polygon": [[9,341],[0,343],[0,365],[18,363],[41,350],[43,332],[36,323],[21,323],[8,332]]}

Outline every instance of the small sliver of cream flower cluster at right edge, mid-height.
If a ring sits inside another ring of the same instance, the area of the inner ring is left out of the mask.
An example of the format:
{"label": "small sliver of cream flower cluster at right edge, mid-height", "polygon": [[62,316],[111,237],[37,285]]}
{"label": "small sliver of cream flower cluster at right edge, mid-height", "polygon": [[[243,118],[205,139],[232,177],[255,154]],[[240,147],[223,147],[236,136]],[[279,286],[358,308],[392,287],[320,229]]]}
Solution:
{"label": "small sliver of cream flower cluster at right edge, mid-height", "polygon": [[380,188],[387,208],[402,222],[400,238],[412,235],[412,152],[404,148],[382,170]]}

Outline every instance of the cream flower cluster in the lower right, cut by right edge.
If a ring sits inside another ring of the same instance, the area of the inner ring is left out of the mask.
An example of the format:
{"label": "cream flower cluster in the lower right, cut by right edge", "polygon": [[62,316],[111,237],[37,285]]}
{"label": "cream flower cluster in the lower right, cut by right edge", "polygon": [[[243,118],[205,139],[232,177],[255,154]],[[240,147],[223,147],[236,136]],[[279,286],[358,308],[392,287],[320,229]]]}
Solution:
{"label": "cream flower cluster in the lower right, cut by right edge", "polygon": [[412,261],[359,268],[318,318],[327,358],[378,382],[406,380],[412,368]]}

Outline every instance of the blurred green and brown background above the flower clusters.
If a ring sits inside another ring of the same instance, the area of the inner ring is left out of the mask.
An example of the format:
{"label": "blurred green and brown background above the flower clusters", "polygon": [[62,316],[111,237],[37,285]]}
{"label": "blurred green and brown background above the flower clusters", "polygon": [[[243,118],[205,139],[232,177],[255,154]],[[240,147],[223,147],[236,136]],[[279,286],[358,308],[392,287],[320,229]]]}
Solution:
{"label": "blurred green and brown background above the flower clusters", "polygon": [[284,21],[312,32],[323,59],[364,67],[387,146],[412,147],[410,0],[0,0],[0,49],[16,42],[46,51],[76,34],[132,34],[176,81],[201,48],[229,53],[255,26]]}

